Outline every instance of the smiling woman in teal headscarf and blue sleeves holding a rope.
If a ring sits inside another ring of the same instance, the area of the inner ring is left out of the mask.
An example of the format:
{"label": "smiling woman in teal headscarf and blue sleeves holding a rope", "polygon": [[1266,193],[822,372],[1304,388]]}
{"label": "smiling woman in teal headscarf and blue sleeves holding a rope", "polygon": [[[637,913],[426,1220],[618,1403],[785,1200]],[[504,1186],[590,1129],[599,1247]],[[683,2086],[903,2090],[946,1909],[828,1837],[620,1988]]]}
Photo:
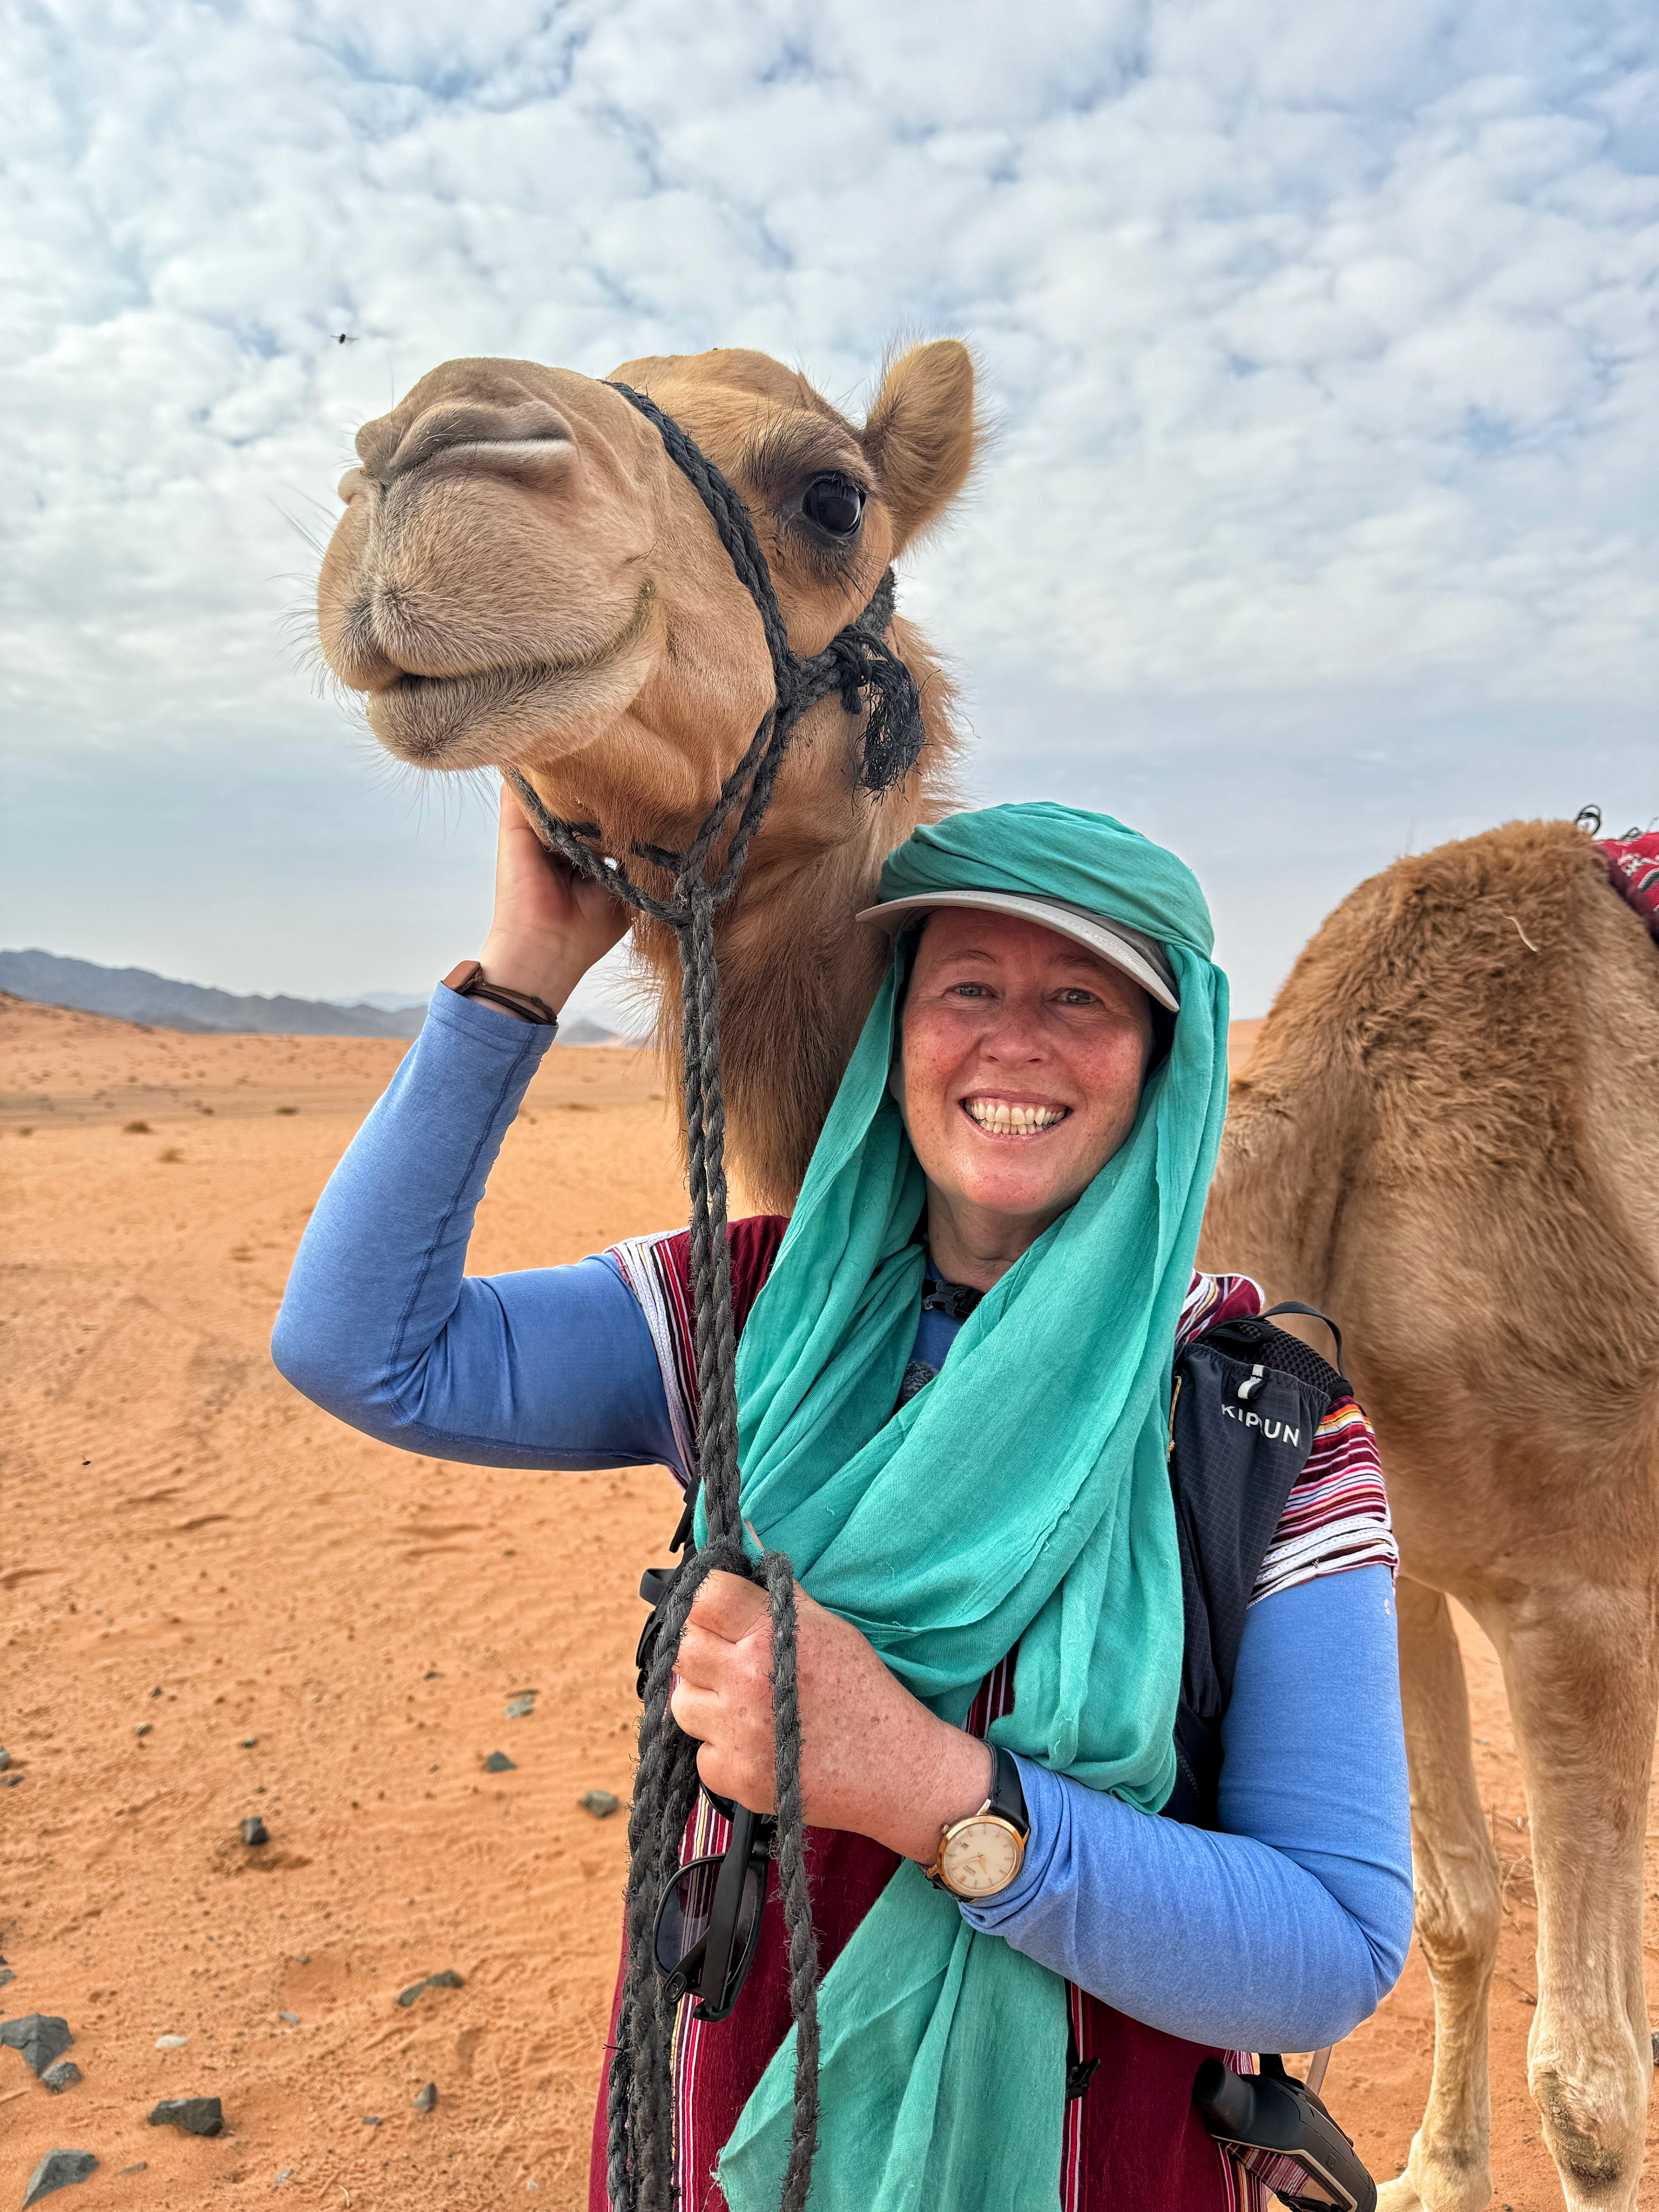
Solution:
{"label": "smiling woman in teal headscarf and blue sleeves holding a rope", "polygon": [[[482,951],[504,1000],[434,993],[276,1327],[283,1374],[356,1427],[482,1464],[692,1473],[684,1237],[462,1276],[553,1037],[538,1015],[624,922],[504,796]],[[1374,1444],[1294,1347],[1283,1374],[1265,1352],[1212,1369],[1239,1400],[1316,1400],[1314,1422],[1217,1402],[1168,1458],[1172,1360],[1186,1385],[1261,1307],[1192,1276],[1225,978],[1181,863],[1104,816],[993,807],[902,845],[869,925],[894,962],[790,1232],[732,1230],[743,1511],[803,1582],[814,2201],[1230,2205],[1199,2059],[1338,2039],[1411,1929]],[[1245,1480],[1225,1453],[1270,1429]],[[1290,1486],[1252,1535],[1274,1467]],[[757,1812],[768,1677],[759,1593],[710,1577],[672,1710],[708,1790]],[[686,1856],[723,1832],[703,1807]],[[772,1898],[730,2020],[681,2015],[681,2203],[776,2203],[787,2017]]]}

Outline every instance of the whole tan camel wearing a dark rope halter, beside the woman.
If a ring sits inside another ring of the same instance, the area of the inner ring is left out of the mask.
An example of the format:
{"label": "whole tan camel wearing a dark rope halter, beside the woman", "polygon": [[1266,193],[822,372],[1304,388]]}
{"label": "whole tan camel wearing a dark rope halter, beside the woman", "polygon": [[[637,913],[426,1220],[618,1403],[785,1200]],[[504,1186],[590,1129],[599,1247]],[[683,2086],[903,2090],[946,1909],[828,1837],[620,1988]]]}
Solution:
{"label": "whole tan camel wearing a dark rope halter, beside the woman", "polygon": [[[975,449],[953,343],[894,361],[863,427],[765,354],[630,361],[750,504],[796,653],[947,511]],[[606,852],[681,845],[770,701],[759,615],[619,394],[451,361],[358,436],[319,588],[338,679],[422,768],[520,768]],[[852,524],[852,526],[847,526]],[[911,779],[856,787],[836,697],[803,723],[721,914],[726,1091],[750,1194],[787,1210],[885,947],[854,914],[953,803],[951,688]],[[677,956],[635,925],[672,1051]],[[1659,953],[1593,843],[1511,825],[1402,860],[1325,922],[1234,1091],[1203,1261],[1345,1329],[1394,1498],[1418,1927],[1436,2068],[1383,2212],[1475,2212],[1498,1865],[1455,1595],[1498,1646],[1540,1896],[1531,2086],[1568,2205],[1624,2212],[1650,2046],[1641,1843],[1659,1697]],[[1323,1347],[1321,1347],[1323,1349]]]}

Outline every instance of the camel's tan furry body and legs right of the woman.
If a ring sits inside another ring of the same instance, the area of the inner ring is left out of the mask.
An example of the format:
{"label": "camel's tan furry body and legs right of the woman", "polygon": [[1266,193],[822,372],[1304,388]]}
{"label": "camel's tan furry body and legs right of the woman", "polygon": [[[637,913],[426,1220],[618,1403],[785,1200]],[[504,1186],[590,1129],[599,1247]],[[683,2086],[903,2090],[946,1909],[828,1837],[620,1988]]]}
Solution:
{"label": "camel's tan furry body and legs right of the woman", "polygon": [[1380,2203],[1475,2212],[1491,2194],[1502,1905],[1455,1597],[1502,1657],[1531,1807],[1528,2086],[1568,2205],[1635,2205],[1652,2077],[1659,947],[1588,836],[1511,823],[1396,863],[1332,914],[1234,1084],[1203,1261],[1343,1327],[1400,1535],[1436,2062]]}

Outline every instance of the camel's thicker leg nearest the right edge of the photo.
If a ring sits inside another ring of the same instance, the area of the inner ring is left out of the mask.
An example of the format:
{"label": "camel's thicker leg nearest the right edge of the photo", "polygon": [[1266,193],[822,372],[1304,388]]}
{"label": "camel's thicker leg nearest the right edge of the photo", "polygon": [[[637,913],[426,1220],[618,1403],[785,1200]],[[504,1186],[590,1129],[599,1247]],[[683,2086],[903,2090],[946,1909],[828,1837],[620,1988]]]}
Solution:
{"label": "camel's thicker leg nearest the right edge of the photo", "polygon": [[1652,1595],[1579,1584],[1493,1626],[1533,1820],[1526,2086],[1573,2212],[1621,2212],[1637,2201],[1652,2079],[1641,1984]]}

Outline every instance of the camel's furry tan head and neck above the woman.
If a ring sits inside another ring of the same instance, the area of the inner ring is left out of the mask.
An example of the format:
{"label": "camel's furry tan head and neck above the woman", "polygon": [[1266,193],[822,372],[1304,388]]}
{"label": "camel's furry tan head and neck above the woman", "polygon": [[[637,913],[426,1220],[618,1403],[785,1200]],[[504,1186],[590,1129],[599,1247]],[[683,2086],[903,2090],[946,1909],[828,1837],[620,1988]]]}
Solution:
{"label": "camel's furry tan head and neck above the woman", "polygon": [[[765,354],[628,361],[615,376],[743,493],[801,655],[863,611],[973,462],[973,365],[953,341],[894,361],[858,429]],[[319,622],[374,734],[420,768],[520,768],[555,814],[597,823],[611,854],[684,845],[743,757],[772,668],[657,429],[573,369],[449,361],[356,447]],[[814,520],[823,478],[865,495],[847,535]],[[814,708],[719,922],[732,1150],[770,1206],[799,1190],[880,980],[885,945],[854,914],[883,856],[953,803],[951,686],[914,624],[896,617],[891,641],[922,690],[916,772],[880,799],[860,792],[863,714],[838,695]],[[672,936],[641,922],[635,951],[672,1053]]]}

